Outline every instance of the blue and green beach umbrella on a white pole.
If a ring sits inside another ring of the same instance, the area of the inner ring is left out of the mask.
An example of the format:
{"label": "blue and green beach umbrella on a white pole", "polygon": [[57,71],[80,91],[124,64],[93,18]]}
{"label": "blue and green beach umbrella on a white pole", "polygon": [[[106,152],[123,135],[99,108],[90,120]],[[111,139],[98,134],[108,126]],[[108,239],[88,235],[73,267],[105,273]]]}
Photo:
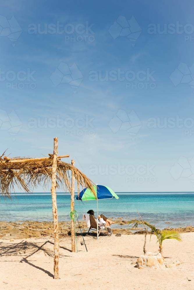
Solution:
{"label": "blue and green beach umbrella on a white pole", "polygon": [[[97,201],[97,215],[98,215],[98,200],[101,199],[110,199],[119,197],[116,193],[108,186],[104,185],[93,185],[96,196],[89,188],[84,188],[79,195],[76,197],[76,200],[96,200]],[[97,226],[97,239],[98,239],[98,226]]]}

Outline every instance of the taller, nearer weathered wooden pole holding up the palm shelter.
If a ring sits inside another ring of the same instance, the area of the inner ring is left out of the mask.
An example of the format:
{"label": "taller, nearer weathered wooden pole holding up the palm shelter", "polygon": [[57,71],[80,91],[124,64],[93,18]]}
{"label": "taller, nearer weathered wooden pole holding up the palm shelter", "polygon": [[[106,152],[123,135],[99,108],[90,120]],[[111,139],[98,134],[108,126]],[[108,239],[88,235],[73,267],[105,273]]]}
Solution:
{"label": "taller, nearer weathered wooden pole holding up the palm shelter", "polygon": [[54,279],[59,279],[59,237],[58,237],[58,215],[57,215],[57,202],[56,202],[56,171],[57,171],[57,151],[58,138],[54,138],[54,151],[53,151],[53,165],[52,165],[52,182],[51,182],[51,195],[52,195],[52,208],[53,208],[53,224],[54,224]]}

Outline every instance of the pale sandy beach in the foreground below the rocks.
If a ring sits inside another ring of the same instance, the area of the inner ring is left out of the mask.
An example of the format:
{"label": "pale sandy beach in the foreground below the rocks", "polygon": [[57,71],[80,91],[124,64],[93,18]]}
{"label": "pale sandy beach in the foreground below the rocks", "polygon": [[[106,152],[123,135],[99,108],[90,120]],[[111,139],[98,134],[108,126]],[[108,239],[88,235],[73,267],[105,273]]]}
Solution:
{"label": "pale sandy beach in the foreground below the rocks", "polygon": [[[163,270],[131,264],[143,254],[144,235],[86,237],[88,252],[78,237],[78,253],[71,253],[70,237],[60,239],[60,280],[53,279],[53,239],[0,240],[0,289],[194,289],[194,233],[181,238],[164,240],[165,262],[182,264]],[[157,252],[156,237],[147,241],[147,250]]]}

